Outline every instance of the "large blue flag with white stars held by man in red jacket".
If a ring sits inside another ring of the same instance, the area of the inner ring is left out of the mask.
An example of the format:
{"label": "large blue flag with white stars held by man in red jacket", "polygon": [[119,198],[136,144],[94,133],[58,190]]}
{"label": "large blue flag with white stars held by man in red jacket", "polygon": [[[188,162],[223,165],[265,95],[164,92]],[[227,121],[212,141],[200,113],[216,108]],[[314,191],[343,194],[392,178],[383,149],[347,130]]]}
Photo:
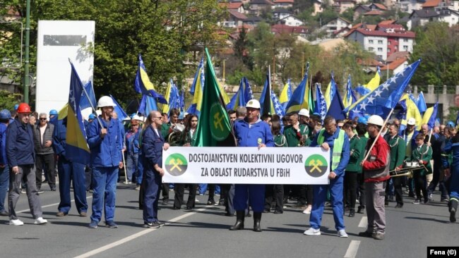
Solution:
{"label": "large blue flag with white stars held by man in red jacket", "polygon": [[400,73],[395,74],[391,79],[372,90],[366,97],[360,99],[359,102],[347,107],[345,112],[350,112],[350,116],[371,114],[386,118],[391,109],[394,109],[400,101],[400,97],[402,97],[420,61],[419,59]]}

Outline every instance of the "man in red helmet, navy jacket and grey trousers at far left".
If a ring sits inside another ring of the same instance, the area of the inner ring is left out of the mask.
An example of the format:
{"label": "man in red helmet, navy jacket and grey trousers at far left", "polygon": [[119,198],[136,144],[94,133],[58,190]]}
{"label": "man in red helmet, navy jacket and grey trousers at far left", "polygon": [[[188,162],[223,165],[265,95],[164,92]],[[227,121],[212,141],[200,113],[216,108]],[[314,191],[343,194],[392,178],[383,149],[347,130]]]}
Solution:
{"label": "man in red helmet, navy jacket and grey trousers at far left", "polygon": [[35,185],[35,149],[33,146],[33,130],[29,124],[30,106],[21,103],[18,106],[18,119],[15,119],[6,129],[6,157],[10,167],[10,190],[8,192],[8,207],[10,225],[20,226],[23,221],[16,216],[16,203],[20,195],[20,182],[27,182],[27,198],[30,212],[35,224],[48,221],[42,218],[42,206],[38,199]]}

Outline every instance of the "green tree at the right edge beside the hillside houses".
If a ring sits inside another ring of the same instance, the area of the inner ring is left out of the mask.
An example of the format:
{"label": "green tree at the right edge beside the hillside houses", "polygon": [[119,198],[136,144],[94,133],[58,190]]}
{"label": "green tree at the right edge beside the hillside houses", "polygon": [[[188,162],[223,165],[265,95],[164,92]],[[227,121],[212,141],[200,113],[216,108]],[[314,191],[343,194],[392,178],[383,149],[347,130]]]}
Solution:
{"label": "green tree at the right edge beside the hillside houses", "polygon": [[459,81],[459,26],[427,23],[417,27],[410,62],[422,59],[412,78],[414,85],[457,85]]}

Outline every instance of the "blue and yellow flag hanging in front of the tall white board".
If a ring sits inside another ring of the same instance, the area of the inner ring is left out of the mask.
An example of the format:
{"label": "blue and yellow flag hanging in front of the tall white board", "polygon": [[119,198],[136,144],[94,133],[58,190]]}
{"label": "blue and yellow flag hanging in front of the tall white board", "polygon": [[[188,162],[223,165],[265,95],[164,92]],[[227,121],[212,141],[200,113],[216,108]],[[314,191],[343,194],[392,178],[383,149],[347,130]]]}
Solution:
{"label": "blue and yellow flag hanging in front of the tall white board", "polygon": [[83,92],[83,83],[71,65],[70,93],[68,94],[66,159],[80,164],[89,164],[90,151],[86,137],[83,116],[81,116],[80,100]]}

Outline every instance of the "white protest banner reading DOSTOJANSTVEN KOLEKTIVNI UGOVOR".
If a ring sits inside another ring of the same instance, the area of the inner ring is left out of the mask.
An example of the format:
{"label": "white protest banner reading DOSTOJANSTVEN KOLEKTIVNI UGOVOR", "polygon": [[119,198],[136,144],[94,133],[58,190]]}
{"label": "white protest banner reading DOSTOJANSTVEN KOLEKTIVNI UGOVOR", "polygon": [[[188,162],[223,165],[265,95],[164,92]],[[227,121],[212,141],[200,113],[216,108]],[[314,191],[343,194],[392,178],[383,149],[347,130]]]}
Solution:
{"label": "white protest banner reading DOSTOJANSTVEN KOLEKTIVNI UGOVOR", "polygon": [[328,164],[319,147],[169,147],[162,182],[326,185]]}

